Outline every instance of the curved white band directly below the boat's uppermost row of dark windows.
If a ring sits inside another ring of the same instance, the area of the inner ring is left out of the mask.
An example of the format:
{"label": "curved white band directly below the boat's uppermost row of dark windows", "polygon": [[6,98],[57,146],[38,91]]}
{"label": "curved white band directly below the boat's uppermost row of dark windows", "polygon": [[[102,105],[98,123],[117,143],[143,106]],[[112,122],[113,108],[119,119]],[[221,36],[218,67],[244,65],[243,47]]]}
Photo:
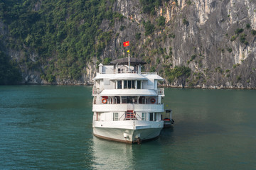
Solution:
{"label": "curved white band directly below the boat's uppermost row of dark windows", "polygon": [[157,96],[151,89],[105,89],[100,96]]}

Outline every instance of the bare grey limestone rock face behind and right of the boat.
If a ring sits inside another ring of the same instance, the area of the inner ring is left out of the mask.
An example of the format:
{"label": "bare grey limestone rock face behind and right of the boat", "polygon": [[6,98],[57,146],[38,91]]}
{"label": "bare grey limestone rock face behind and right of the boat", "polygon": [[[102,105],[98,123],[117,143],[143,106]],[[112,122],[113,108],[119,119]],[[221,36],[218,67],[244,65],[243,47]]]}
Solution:
{"label": "bare grey limestone rock face behind and right of the boat", "polygon": [[[114,1],[112,11],[124,18],[115,19],[114,25],[102,21],[100,28],[113,36],[101,60],[124,57],[129,49],[132,57],[148,63],[145,71],[166,78],[165,86],[256,89],[256,1],[171,0],[155,6],[155,13],[144,13],[143,7],[139,0]],[[148,21],[154,26],[150,33]],[[6,27],[2,23],[0,27],[0,33],[6,34]],[[127,40],[129,48],[122,47]],[[92,84],[99,62],[87,64],[81,79],[57,78],[55,84]],[[166,70],[176,66],[189,67],[191,75],[171,81]],[[25,70],[23,83],[47,83],[35,70]]]}

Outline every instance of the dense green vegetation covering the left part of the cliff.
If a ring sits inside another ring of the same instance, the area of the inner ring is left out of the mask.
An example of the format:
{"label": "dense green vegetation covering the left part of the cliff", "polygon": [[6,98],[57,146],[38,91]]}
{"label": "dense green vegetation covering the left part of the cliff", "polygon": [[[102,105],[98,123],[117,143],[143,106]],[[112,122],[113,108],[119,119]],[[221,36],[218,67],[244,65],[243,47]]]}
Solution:
{"label": "dense green vegetation covering the left part of the cliff", "polygon": [[[41,78],[53,82],[79,79],[82,68],[92,57],[99,57],[112,32],[103,32],[103,19],[114,23],[122,15],[113,12],[112,2],[25,1],[0,3],[0,21],[9,26],[9,37],[1,41],[9,49],[24,51],[21,64],[41,72]],[[36,58],[31,60],[31,54]]]}

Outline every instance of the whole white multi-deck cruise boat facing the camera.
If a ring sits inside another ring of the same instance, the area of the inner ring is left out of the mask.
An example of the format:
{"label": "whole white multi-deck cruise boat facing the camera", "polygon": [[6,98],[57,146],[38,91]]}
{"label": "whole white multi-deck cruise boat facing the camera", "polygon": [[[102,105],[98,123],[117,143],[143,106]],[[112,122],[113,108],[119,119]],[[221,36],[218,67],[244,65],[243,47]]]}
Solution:
{"label": "whole white multi-deck cruise boat facing the camera", "polygon": [[141,72],[146,64],[137,58],[122,58],[99,65],[93,79],[93,134],[119,142],[142,142],[158,137],[164,121],[164,81],[156,73]]}

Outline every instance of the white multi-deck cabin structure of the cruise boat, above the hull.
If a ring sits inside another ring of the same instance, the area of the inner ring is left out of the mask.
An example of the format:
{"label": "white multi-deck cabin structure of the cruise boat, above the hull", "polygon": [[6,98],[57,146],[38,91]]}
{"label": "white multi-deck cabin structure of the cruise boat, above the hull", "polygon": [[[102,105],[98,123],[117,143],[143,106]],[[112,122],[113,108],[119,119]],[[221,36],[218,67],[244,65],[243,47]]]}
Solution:
{"label": "white multi-deck cabin structure of the cruise boat, above the hull", "polygon": [[156,73],[142,72],[143,64],[146,62],[137,58],[99,64],[92,89],[96,121],[161,120],[164,89],[157,84],[164,79]]}

